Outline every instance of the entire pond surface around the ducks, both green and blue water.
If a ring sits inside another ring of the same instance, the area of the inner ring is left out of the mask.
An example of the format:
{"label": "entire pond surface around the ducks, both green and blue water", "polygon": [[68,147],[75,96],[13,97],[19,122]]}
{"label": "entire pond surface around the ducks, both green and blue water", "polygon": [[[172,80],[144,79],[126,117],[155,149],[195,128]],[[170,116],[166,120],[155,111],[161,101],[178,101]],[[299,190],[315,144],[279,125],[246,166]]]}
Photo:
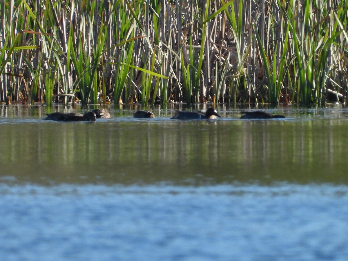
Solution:
{"label": "entire pond surface around the ducks, both green and blue water", "polygon": [[175,109],[0,107],[0,260],[348,259],[348,109]]}

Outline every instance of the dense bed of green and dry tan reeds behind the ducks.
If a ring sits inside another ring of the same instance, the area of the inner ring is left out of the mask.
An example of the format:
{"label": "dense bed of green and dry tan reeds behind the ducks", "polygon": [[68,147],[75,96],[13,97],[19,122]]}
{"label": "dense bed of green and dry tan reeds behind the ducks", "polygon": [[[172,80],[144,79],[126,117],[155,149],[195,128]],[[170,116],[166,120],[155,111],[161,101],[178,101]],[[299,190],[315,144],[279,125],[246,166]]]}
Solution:
{"label": "dense bed of green and dry tan reeds behind the ducks", "polygon": [[0,7],[1,102],[346,102],[346,0]]}

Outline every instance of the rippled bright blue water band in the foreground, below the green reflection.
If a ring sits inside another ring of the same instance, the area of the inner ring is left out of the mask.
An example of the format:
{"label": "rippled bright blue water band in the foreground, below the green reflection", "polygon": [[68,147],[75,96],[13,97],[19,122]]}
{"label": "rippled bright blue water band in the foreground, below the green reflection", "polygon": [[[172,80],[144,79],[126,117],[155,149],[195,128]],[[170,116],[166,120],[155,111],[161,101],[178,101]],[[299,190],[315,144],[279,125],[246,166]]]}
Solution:
{"label": "rippled bright blue water band in the foreground, below the green reflection", "polygon": [[348,260],[330,184],[0,185],[0,260]]}

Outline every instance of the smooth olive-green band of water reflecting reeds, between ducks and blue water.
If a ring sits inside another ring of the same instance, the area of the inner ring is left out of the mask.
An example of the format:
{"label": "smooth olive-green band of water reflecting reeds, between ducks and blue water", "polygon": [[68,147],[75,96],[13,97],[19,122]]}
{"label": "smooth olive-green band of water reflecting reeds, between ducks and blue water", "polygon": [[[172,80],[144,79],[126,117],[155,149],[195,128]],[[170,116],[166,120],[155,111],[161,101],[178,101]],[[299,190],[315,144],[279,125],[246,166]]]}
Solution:
{"label": "smooth olive-green band of water reflecting reeds, between ducks and blue water", "polygon": [[347,184],[346,119],[0,124],[2,176],[35,183]]}

